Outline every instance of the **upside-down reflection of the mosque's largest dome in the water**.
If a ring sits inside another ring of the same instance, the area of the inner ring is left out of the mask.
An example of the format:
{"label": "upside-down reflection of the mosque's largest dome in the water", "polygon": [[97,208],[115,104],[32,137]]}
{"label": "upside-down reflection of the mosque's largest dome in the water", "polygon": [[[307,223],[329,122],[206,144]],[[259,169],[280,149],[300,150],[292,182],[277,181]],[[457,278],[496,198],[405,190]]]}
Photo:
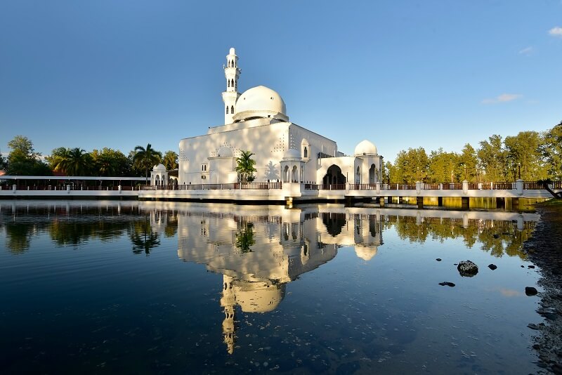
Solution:
{"label": "upside-down reflection of the mosque's largest dome in the water", "polygon": [[234,288],[236,301],[244,313],[268,313],[275,310],[285,298],[285,284],[271,285],[239,280]]}

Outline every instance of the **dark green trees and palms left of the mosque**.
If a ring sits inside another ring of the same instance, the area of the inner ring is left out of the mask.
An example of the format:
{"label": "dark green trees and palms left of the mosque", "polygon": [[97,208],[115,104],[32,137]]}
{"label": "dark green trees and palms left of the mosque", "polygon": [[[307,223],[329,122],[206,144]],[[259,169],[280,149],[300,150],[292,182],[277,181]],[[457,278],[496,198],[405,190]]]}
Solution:
{"label": "dark green trees and palms left of the mosque", "polygon": [[148,172],[156,164],[164,164],[168,171],[178,168],[176,152],[169,150],[162,155],[150,143],[146,147],[136,146],[127,155],[108,147],[91,152],[80,147],[58,147],[51,155],[41,157],[25,136],[15,136],[8,147],[11,151],[7,158],[0,154],[0,169],[11,176],[52,176],[53,172],[61,172],[67,176],[143,175],[148,178]]}

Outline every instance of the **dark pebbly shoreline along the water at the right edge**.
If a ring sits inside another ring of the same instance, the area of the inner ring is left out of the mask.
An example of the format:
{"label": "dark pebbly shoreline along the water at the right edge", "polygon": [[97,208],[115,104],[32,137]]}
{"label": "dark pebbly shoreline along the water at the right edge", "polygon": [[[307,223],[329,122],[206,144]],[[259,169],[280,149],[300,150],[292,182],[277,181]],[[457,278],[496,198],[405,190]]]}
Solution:
{"label": "dark pebbly shoreline along the water at the right edge", "polygon": [[[533,324],[533,338],[541,373],[562,374],[562,204],[537,206],[540,222],[523,244],[529,260],[540,268],[542,287],[537,313],[542,322]],[[532,322],[535,323],[535,322]]]}

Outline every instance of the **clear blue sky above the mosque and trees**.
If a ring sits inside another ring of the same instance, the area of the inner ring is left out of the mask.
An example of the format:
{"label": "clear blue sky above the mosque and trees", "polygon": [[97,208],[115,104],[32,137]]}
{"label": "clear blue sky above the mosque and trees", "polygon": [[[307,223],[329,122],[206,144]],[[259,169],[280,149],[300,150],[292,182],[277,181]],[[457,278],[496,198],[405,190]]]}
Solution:
{"label": "clear blue sky above the mosque and trees", "polygon": [[353,153],[459,152],[562,120],[562,1],[1,1],[0,151],[152,143],[223,122],[240,91]]}

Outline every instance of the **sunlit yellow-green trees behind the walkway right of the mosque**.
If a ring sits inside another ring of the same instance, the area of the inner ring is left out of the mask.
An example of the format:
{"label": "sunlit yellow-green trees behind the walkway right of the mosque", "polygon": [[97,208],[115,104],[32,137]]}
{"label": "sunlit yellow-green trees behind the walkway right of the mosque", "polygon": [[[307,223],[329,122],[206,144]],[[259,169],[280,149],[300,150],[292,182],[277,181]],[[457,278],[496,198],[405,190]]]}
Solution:
{"label": "sunlit yellow-green trees behind the walkway right of the mosque", "polygon": [[443,148],[427,154],[424,147],[401,150],[384,165],[385,183],[490,182],[562,180],[562,121],[544,132],[521,131],[502,138],[494,134],[461,152]]}

